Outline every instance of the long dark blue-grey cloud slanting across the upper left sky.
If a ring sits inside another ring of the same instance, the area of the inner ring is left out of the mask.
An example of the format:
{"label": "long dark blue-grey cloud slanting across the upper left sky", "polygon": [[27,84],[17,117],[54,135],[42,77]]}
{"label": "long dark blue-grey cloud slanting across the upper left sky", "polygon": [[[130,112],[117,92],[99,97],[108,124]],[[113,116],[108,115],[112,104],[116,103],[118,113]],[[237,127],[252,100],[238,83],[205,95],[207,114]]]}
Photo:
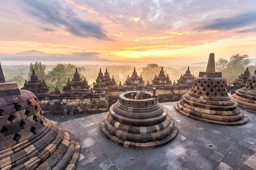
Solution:
{"label": "long dark blue-grey cloud slanting across the upper left sky", "polygon": [[79,37],[95,37],[98,39],[109,40],[103,33],[100,24],[81,20],[70,8],[64,8],[58,1],[39,1],[22,0],[29,7],[27,12],[37,17],[41,22],[62,27],[64,30]]}

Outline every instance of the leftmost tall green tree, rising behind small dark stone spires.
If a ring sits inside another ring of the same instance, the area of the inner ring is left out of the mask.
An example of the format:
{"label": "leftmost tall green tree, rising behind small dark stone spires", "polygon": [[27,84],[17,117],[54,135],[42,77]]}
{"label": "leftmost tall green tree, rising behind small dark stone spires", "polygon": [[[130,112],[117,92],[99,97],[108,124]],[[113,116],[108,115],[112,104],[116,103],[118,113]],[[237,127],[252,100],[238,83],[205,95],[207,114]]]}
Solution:
{"label": "leftmost tall green tree, rising behind small dark stone spires", "polygon": [[41,62],[35,62],[35,64],[30,63],[28,79],[30,80],[30,76],[32,75],[33,69],[39,79],[41,79],[41,80],[45,79],[46,78],[45,68],[46,68],[46,65],[42,64]]}

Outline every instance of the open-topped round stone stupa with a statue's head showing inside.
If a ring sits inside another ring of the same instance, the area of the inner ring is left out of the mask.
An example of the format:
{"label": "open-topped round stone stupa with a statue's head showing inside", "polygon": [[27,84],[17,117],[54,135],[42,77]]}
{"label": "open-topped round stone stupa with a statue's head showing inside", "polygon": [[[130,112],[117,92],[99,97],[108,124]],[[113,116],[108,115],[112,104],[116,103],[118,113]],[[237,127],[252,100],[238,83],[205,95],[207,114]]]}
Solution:
{"label": "open-topped round stone stupa with a statue's head showing inside", "polygon": [[107,139],[136,149],[163,146],[174,139],[178,128],[157,101],[155,89],[154,94],[145,93],[142,100],[135,100],[137,91],[119,95],[119,100],[110,107],[101,124]]}

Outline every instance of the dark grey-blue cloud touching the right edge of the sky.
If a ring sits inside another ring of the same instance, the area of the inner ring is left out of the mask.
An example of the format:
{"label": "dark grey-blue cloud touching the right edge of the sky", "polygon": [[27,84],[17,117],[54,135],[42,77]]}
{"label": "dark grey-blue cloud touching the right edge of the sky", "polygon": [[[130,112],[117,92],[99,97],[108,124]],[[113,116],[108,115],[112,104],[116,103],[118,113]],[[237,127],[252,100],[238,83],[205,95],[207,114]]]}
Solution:
{"label": "dark grey-blue cloud touching the right edge of the sky", "polygon": [[199,29],[203,30],[232,30],[255,24],[256,12],[239,14],[229,18],[217,18],[212,23],[206,24]]}

